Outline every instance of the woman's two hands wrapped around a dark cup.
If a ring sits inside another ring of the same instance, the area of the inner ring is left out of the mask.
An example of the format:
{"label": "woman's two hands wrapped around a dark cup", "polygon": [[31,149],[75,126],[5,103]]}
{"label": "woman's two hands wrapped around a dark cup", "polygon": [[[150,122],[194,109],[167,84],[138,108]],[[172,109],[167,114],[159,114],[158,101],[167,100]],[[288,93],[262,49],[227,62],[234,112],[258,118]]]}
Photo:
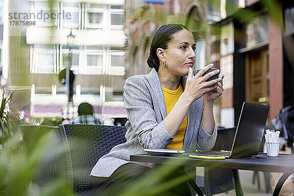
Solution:
{"label": "woman's two hands wrapped around a dark cup", "polygon": [[[214,101],[215,99],[213,99],[213,98],[215,98],[216,95],[218,95],[220,93],[218,91],[218,94],[209,94],[209,92],[217,90],[218,86],[222,89],[222,77],[223,76],[219,77],[217,79],[211,80],[209,82],[206,82],[206,80],[208,78],[219,73],[220,72],[219,70],[207,73],[206,75],[202,76],[206,71],[208,71],[212,67],[213,67],[213,64],[209,64],[209,65],[205,66],[194,77],[192,77],[192,75],[193,75],[192,68],[189,68],[186,87],[185,87],[183,94],[186,98],[188,98],[188,100],[191,101],[191,103],[193,103],[196,99],[201,98],[202,96],[204,96],[206,94],[208,94],[206,98]],[[223,74],[221,74],[221,75],[223,75]],[[219,85],[216,84],[218,82],[220,83]],[[214,85],[214,84],[216,84],[216,85]],[[214,85],[214,86],[212,86],[212,85]],[[222,93],[222,90],[221,90],[221,93]],[[216,97],[216,98],[218,98],[218,97]]]}

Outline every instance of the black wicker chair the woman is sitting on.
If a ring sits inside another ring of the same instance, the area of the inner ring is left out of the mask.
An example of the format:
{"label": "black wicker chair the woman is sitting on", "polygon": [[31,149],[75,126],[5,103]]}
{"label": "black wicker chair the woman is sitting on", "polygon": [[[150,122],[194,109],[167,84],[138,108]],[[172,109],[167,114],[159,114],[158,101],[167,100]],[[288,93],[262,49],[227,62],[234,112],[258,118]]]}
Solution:
{"label": "black wicker chair the woman is sitting on", "polygon": [[61,124],[66,150],[68,183],[73,193],[90,195],[90,172],[112,147],[126,142],[124,126]]}

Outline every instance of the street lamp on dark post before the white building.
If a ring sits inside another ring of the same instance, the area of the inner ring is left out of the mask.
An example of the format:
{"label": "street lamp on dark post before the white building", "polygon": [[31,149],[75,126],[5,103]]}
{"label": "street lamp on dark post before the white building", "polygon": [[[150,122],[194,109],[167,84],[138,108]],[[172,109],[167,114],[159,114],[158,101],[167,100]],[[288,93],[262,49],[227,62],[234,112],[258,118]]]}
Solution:
{"label": "street lamp on dark post before the white building", "polygon": [[68,54],[68,66],[66,67],[66,87],[67,87],[67,96],[68,96],[68,104],[67,104],[67,117],[69,118],[69,109],[70,109],[70,102],[73,101],[73,95],[71,95],[71,84],[70,84],[70,67],[72,66],[72,49],[74,44],[74,35],[71,33],[67,36],[67,46],[69,47],[69,54]]}

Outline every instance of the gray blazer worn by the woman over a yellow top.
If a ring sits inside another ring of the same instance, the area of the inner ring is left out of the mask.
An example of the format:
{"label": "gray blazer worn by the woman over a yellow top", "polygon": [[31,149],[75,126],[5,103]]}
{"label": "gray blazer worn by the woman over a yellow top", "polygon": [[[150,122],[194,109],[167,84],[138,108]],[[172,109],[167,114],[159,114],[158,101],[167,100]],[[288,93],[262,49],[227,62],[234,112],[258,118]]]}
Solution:
{"label": "gray blazer worn by the woman over a yellow top", "polygon": [[[185,88],[187,76],[181,77]],[[123,87],[124,107],[128,121],[126,142],[117,145],[102,156],[90,175],[109,177],[120,166],[131,162],[131,154],[144,154],[144,148],[166,148],[173,137],[168,133],[163,119],[167,116],[165,100],[159,77],[153,68],[147,75],[134,75],[126,79]],[[188,123],[183,142],[183,150],[209,151],[217,138],[216,126],[210,136],[202,127],[203,99],[193,102],[188,111]],[[136,163],[154,167],[152,163]]]}

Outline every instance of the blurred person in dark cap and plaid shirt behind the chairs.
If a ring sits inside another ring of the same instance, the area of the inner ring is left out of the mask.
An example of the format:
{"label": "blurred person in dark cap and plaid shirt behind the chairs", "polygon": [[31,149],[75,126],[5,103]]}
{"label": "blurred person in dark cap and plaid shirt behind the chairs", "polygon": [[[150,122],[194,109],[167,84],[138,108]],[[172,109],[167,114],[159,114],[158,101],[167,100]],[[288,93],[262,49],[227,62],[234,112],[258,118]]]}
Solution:
{"label": "blurred person in dark cap and plaid shirt behind the chairs", "polygon": [[83,102],[79,104],[77,110],[78,116],[69,121],[69,124],[103,124],[94,116],[93,106],[90,103]]}

